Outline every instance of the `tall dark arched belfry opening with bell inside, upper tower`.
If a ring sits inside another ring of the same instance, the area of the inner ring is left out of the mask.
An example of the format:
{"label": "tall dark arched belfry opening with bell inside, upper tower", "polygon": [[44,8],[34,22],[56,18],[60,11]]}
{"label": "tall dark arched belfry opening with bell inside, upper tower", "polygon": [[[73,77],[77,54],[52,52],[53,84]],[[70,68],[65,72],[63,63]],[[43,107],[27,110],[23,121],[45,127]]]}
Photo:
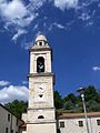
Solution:
{"label": "tall dark arched belfry opening with bell inside, upper tower", "polygon": [[44,59],[42,57],[37,59],[37,72],[44,72]]}

